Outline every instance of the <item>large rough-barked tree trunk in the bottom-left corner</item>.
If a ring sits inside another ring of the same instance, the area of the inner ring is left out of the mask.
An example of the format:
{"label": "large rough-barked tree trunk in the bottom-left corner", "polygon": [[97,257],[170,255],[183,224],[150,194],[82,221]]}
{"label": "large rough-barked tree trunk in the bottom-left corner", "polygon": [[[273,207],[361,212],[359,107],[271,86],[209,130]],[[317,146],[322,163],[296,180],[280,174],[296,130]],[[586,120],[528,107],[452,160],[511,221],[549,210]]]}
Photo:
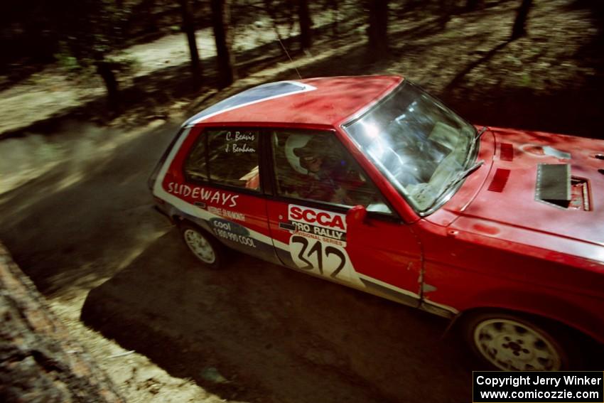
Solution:
{"label": "large rough-barked tree trunk in the bottom-left corner", "polygon": [[0,244],[0,397],[4,402],[123,403]]}

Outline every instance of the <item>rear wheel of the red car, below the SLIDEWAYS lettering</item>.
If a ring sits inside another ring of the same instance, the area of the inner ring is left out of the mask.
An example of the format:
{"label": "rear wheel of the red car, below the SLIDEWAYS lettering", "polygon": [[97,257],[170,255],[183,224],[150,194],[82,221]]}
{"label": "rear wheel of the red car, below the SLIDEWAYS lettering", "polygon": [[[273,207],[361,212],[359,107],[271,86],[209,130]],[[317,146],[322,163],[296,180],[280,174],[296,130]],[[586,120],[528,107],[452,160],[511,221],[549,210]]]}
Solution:
{"label": "rear wheel of the red car, below the SLIDEWAYS lettering", "polygon": [[207,231],[187,221],[178,224],[178,230],[193,256],[211,269],[220,269],[225,264],[225,247]]}

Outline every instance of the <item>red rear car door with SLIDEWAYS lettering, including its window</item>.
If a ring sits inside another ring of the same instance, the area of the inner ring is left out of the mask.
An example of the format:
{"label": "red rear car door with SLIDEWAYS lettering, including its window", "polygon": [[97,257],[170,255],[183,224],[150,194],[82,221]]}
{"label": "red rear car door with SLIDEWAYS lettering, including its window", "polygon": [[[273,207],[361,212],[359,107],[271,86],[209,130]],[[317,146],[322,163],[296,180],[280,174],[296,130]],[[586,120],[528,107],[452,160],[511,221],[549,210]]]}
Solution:
{"label": "red rear car door with SLIDEWAYS lettering, including its window", "polygon": [[232,249],[279,262],[262,192],[261,131],[193,127],[163,176],[161,198]]}

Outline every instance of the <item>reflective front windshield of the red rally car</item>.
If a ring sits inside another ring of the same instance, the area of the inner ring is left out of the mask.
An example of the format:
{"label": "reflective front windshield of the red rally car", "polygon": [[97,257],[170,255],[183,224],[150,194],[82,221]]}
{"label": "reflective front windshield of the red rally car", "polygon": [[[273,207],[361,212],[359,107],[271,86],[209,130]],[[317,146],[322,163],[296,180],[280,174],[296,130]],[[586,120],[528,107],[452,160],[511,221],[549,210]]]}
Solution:
{"label": "reflective front windshield of the red rally car", "polygon": [[418,213],[445,203],[475,158],[474,127],[406,80],[344,129]]}

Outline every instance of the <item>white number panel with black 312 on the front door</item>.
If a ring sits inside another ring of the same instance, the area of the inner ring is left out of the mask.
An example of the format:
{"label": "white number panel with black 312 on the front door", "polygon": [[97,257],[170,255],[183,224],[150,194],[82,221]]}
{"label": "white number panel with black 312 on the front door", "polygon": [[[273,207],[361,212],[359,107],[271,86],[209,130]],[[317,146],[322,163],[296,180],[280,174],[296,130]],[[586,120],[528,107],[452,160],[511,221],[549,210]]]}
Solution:
{"label": "white number panel with black 312 on the front door", "polygon": [[[311,242],[314,243],[311,245]],[[338,274],[343,274],[340,277],[347,277],[344,273],[340,273],[348,260],[345,250],[332,245],[325,246],[318,240],[309,242],[308,238],[299,235],[291,237],[290,248],[293,262],[300,269],[309,271],[318,269],[322,276],[330,276],[333,279]]]}

